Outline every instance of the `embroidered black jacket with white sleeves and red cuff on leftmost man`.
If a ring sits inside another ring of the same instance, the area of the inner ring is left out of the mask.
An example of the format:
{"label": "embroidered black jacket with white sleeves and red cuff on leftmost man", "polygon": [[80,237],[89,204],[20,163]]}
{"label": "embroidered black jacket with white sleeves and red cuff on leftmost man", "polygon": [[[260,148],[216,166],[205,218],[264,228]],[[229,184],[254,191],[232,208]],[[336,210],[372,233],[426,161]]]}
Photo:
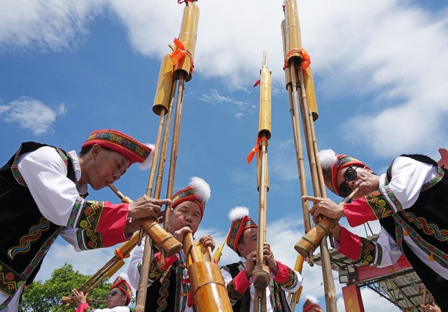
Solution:
{"label": "embroidered black jacket with white sleeves and red cuff on leftmost man", "polygon": [[[50,167],[51,173],[56,172],[60,179],[66,181],[62,183],[58,180],[57,183],[53,183],[56,185],[55,189],[50,191],[44,189],[45,184],[43,186],[33,184],[34,188],[41,187],[41,189],[32,195],[29,185],[27,185],[29,181],[25,181],[22,176],[25,172],[20,172],[19,158],[38,150],[51,151],[50,155],[53,158],[55,155],[59,157],[59,163],[63,165],[55,165],[57,170],[61,170],[57,172],[55,168],[51,168],[52,163],[35,163],[36,168],[34,169],[42,177],[36,175],[34,179],[48,177],[48,172],[45,169]],[[57,156],[58,154],[59,156]],[[78,171],[80,171],[79,168]],[[68,191],[62,189],[62,185],[71,185],[70,187],[74,189],[73,193],[76,196],[73,196],[73,201],[66,200]],[[60,189],[57,189],[57,186]],[[43,258],[59,233],[66,234],[64,238],[67,239],[71,236],[70,243],[75,244],[78,250],[116,245],[125,240],[123,233],[127,218],[127,205],[118,208],[117,205],[106,202],[85,201],[79,195],[79,189],[76,191],[77,186],[73,156],[62,149],[45,144],[23,143],[15,155],[10,158],[10,161],[0,169],[0,237],[2,238],[0,240],[0,310],[8,304],[7,297],[13,297],[25,282],[26,284],[32,282]],[[33,196],[38,196],[38,199]],[[50,205],[38,206],[36,203],[37,200],[39,203],[57,201],[57,196],[64,196],[64,200],[71,205],[67,207],[55,205],[56,207],[50,208],[48,207]],[[118,208],[116,215],[103,215],[105,210],[109,212],[115,208]],[[57,213],[55,213],[55,209]],[[57,220],[57,218],[60,219],[60,215],[64,214],[67,216],[64,223]],[[120,221],[118,221],[119,219]],[[56,220],[57,223],[50,220]],[[108,223],[120,223],[120,225],[107,226]]]}

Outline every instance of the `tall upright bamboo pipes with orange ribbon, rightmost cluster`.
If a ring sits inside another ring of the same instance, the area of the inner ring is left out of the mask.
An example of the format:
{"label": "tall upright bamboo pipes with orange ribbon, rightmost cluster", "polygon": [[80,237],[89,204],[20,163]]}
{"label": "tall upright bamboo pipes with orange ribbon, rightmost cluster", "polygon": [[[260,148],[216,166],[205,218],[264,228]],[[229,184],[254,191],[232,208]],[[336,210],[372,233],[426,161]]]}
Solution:
{"label": "tall upright bamboo pipes with orange ribbon, rightmost cluster", "polygon": [[[285,15],[284,23],[282,23],[283,52],[285,53],[285,69],[288,69],[285,70],[286,88],[290,99],[293,134],[295,136],[295,142],[297,142],[295,145],[297,149],[299,147],[298,138],[300,137],[298,114],[301,114],[309,169],[311,171],[311,185],[313,187],[314,196],[323,197],[325,194],[325,186],[323,184],[323,178],[321,177],[320,164],[317,156],[318,149],[316,135],[314,133],[313,124],[318,117],[315,103],[314,82],[310,80],[310,77],[312,78],[311,69],[309,69],[309,71],[306,70],[309,68],[310,61],[306,51],[302,49],[300,22],[297,14],[297,1],[285,0],[283,11]],[[304,181],[303,154],[300,149],[296,150],[296,157],[299,167],[298,169],[300,171],[300,190],[303,196],[307,195],[307,193],[306,183]],[[302,213],[304,217],[305,233],[309,233],[309,231],[311,231],[309,208],[304,200],[302,200]],[[326,240],[321,240],[321,255],[326,308],[329,312],[337,311],[337,297],[334,280],[332,279],[330,255],[328,253]],[[314,264],[313,253],[311,250],[309,250],[308,255],[304,257],[308,257],[310,266]]]}

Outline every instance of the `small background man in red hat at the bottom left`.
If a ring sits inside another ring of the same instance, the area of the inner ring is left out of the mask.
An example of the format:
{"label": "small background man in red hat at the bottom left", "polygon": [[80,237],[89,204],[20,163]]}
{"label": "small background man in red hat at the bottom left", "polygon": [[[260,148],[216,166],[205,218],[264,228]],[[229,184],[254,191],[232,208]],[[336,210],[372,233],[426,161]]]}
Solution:
{"label": "small background man in red hat at the bottom left", "polygon": [[127,307],[131,303],[131,286],[121,276],[113,281],[111,291],[106,295],[107,308],[92,308],[87,304],[88,294],[73,289],[72,298],[78,305],[75,312],[130,312]]}

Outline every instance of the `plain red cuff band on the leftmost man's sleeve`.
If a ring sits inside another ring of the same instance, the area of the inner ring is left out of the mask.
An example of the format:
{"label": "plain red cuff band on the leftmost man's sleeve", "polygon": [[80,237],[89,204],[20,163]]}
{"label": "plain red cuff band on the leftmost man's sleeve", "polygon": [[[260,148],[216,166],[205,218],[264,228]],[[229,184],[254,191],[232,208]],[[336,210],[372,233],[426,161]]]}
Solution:
{"label": "plain red cuff band on the leftmost man's sleeve", "polygon": [[128,212],[127,203],[113,204],[105,201],[102,214],[99,216],[97,232],[124,235]]}

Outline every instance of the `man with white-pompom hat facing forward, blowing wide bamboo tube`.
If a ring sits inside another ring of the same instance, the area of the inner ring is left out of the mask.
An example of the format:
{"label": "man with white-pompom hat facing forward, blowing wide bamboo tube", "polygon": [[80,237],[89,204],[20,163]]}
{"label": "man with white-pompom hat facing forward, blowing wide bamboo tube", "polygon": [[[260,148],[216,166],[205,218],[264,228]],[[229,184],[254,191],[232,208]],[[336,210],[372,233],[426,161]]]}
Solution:
{"label": "man with white-pompom hat facing forward, blowing wide bamboo tube", "polygon": [[[204,216],[205,204],[210,198],[210,186],[200,177],[193,177],[190,184],[173,196],[172,214],[169,219],[168,232],[174,238],[183,241],[186,233],[196,233]],[[215,247],[210,235],[204,235],[199,243],[204,247]],[[144,241],[137,246],[127,269],[130,283],[138,289],[141,260],[144,253]],[[160,267],[160,252],[154,253],[148,276],[148,292],[146,294],[145,312],[185,312],[193,311],[193,297],[188,276],[186,259],[183,250],[178,254],[165,258]],[[137,296],[139,294],[137,293]]]}

